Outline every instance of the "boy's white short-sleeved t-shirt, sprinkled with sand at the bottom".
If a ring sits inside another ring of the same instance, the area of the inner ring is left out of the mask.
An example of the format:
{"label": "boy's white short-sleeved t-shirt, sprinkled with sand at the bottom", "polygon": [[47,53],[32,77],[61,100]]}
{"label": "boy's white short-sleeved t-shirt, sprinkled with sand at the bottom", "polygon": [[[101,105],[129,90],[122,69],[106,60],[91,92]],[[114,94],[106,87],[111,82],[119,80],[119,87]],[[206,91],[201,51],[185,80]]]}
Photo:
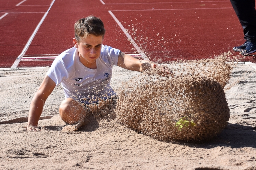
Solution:
{"label": "boy's white short-sleeved t-shirt, sprinkled with sand at the bottom", "polygon": [[110,80],[119,53],[119,49],[102,45],[100,57],[96,59],[97,68],[90,69],[83,66],[79,60],[78,50],[73,47],[55,58],[46,75],[54,80],[56,86],[61,83],[65,98],[83,103],[88,103],[88,95],[106,99],[115,95]]}

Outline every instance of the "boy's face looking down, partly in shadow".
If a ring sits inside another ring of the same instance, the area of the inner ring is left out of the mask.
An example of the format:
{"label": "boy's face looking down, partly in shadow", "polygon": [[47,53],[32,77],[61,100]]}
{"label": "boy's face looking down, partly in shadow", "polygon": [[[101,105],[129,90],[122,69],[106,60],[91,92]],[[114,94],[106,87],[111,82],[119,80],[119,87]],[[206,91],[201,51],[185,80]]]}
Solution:
{"label": "boy's face looking down, partly in shadow", "polygon": [[78,48],[80,62],[83,65],[93,64],[100,57],[103,36],[88,35],[79,41],[73,38],[75,48]]}

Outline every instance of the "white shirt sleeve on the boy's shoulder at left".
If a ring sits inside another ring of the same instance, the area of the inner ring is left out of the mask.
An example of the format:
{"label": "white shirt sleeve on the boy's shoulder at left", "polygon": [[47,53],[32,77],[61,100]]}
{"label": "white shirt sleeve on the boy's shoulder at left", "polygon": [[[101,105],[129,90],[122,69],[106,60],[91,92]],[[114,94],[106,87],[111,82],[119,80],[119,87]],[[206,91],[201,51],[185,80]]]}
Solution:
{"label": "white shirt sleeve on the boy's shoulder at left", "polygon": [[48,75],[48,77],[50,77],[55,82],[56,86],[58,86],[63,79],[67,79],[69,73],[63,62],[56,58],[50,69],[47,71],[46,75]]}

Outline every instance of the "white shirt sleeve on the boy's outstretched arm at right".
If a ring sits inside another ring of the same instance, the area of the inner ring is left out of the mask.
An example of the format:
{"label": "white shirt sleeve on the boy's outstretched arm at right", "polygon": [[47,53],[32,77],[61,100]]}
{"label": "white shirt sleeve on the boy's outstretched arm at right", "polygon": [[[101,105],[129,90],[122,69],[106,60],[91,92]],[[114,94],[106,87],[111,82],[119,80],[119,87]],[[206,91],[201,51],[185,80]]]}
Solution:
{"label": "white shirt sleeve on the boy's outstretched arm at right", "polygon": [[119,49],[112,48],[109,46],[104,46],[102,48],[104,57],[108,58],[109,64],[111,66],[117,66],[118,55],[121,52]]}

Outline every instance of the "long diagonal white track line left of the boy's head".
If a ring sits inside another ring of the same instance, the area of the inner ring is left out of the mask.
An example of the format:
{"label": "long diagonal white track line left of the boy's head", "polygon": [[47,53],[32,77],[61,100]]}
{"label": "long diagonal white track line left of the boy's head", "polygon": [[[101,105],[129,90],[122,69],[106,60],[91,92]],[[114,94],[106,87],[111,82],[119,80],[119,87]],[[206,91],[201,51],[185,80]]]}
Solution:
{"label": "long diagonal white track line left of the boy's head", "polygon": [[47,14],[49,13],[52,5],[54,4],[55,0],[52,1],[52,3],[50,4],[50,7],[48,8],[48,10],[46,11],[45,15],[43,16],[43,18],[40,20],[40,22],[38,23],[37,27],[35,28],[34,32],[32,33],[32,35],[30,36],[26,46],[24,47],[24,49],[22,50],[22,52],[20,53],[20,55],[16,58],[15,62],[13,63],[13,65],[11,66],[11,68],[17,68],[17,66],[19,65],[20,59],[25,55],[26,51],[28,50],[28,47],[30,46],[33,38],[35,37],[35,34],[37,33],[39,27],[41,26],[41,24],[43,23],[43,21],[45,20]]}

